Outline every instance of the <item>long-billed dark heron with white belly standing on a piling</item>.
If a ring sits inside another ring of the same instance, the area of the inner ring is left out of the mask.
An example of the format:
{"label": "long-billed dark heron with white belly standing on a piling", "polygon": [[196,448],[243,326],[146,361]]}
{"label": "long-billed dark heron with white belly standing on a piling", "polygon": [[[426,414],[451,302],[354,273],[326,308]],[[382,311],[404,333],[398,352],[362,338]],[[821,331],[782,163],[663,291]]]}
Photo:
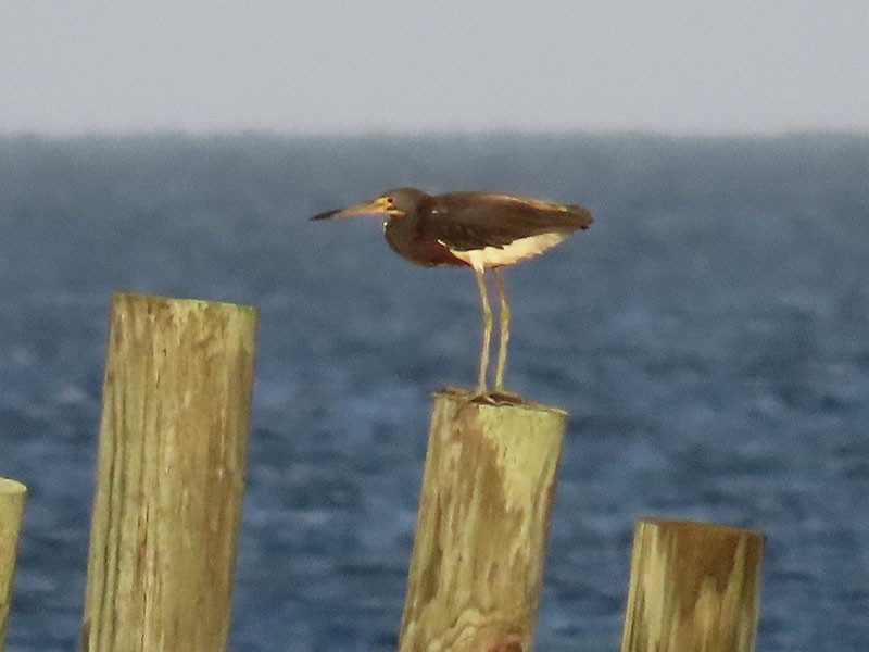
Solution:
{"label": "long-billed dark heron with white belly standing on a piling", "polygon": [[[594,221],[577,204],[562,204],[520,195],[454,191],[429,195],[418,188],[393,188],[370,201],[314,215],[312,220],[379,215],[383,236],[402,258],[424,266],[464,265],[474,271],[482,310],[482,344],[476,397],[509,396],[504,368],[509,341],[509,305],[500,268],[555,247]],[[492,310],[486,271],[490,269],[500,301],[498,362],[493,391],[487,391],[492,339]]]}

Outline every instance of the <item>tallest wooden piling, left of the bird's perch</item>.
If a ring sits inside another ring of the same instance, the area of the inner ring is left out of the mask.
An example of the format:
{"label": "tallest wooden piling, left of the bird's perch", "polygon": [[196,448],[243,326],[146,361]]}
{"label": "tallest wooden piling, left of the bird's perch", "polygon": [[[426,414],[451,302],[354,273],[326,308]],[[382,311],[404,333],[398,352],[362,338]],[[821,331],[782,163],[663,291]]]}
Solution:
{"label": "tallest wooden piling, left of the bird's perch", "polygon": [[256,312],[112,297],[80,649],[226,649]]}

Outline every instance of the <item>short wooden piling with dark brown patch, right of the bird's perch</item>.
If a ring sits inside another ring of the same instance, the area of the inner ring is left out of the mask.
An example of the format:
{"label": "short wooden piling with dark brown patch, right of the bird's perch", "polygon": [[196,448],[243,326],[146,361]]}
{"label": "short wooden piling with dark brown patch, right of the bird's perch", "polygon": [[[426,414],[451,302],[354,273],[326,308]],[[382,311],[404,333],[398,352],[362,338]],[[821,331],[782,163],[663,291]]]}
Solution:
{"label": "short wooden piling with dark brown patch, right of the bird's perch", "polygon": [[621,652],[752,652],[764,543],[723,525],[638,521]]}

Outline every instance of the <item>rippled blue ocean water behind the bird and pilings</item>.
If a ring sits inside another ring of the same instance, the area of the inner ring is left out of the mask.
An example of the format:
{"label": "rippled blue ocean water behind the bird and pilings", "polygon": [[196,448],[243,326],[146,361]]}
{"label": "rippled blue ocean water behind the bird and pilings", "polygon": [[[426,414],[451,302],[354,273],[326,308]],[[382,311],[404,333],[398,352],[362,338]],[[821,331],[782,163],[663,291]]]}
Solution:
{"label": "rippled blue ocean water behind the bird and pilings", "polygon": [[763,530],[758,650],[869,644],[869,137],[0,137],[0,476],[30,489],[10,652],[80,627],[109,294],[261,311],[230,649],[394,649],[429,392],[473,276],[307,216],[417,185],[589,206],[505,273],[507,384],[570,413],[538,622],[617,650],[633,523]]}

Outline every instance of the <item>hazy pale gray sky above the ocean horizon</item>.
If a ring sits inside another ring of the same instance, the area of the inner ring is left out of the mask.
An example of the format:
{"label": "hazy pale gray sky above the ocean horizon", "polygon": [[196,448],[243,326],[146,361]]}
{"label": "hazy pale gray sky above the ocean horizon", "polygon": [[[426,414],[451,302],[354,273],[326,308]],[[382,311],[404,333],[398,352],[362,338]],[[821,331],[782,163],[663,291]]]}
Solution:
{"label": "hazy pale gray sky above the ocean horizon", "polygon": [[866,0],[0,0],[0,131],[869,130]]}

